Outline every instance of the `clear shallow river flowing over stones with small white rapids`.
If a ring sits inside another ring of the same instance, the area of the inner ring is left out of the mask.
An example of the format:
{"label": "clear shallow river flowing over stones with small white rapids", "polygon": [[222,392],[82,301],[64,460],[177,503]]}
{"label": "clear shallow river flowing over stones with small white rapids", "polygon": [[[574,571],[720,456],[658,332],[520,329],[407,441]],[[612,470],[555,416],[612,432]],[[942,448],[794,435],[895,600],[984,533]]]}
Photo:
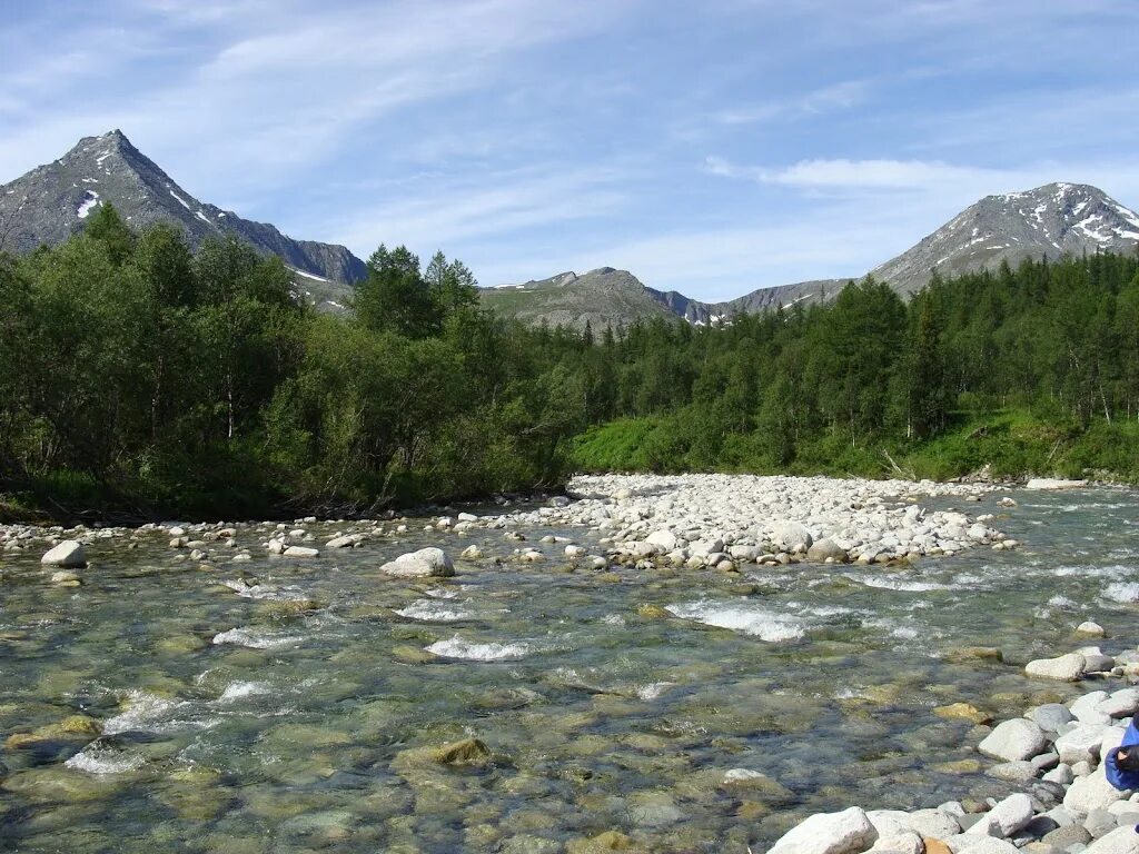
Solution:
{"label": "clear shallow river flowing over stones with small white rapids", "polygon": [[[1082,690],[1019,665],[1087,643],[1072,634],[1087,618],[1107,652],[1139,642],[1139,495],[1014,494],[962,507],[997,514],[1021,549],[904,568],[599,574],[572,570],[564,543],[509,560],[549,533],[601,550],[568,528],[289,559],[263,556],[271,528],[243,526],[254,559],[216,547],[213,568],[149,533],[90,547],[81,588],[51,585],[39,550],[6,556],[0,732],[82,714],[104,734],[9,741],[0,848],[557,852],[620,830],[654,852],[743,852],[810,812],[999,795],[952,764],[977,757],[981,731],[933,707],[1000,718]],[[490,559],[456,578],[377,572],[470,543]],[[490,763],[415,750],[467,737]],[[726,786],[730,769],[778,786]]]}

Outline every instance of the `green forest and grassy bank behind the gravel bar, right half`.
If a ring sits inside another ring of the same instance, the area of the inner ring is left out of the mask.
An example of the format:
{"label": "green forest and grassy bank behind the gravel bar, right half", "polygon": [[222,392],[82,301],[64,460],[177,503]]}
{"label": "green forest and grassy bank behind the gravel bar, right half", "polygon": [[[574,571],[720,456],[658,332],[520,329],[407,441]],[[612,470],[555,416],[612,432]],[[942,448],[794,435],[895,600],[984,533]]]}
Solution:
{"label": "green forest and grassy bank behind the gravel bar, right half", "polygon": [[719,329],[607,331],[577,359],[608,422],[579,442],[588,468],[1139,477],[1136,257],[934,276],[909,303],[867,278]]}

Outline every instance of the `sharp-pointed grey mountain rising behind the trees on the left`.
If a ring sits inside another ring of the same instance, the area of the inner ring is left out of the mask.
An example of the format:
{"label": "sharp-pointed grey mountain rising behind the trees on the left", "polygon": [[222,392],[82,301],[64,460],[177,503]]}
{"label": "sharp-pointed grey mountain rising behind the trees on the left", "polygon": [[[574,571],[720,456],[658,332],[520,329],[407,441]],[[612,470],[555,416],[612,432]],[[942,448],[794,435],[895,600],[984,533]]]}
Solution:
{"label": "sharp-pointed grey mountain rising behind the trees on the left", "polygon": [[347,286],[367,274],[364,263],[343,246],[294,240],[273,225],[198,202],[118,130],[84,137],[58,161],[0,186],[0,239],[6,239],[0,248],[28,252],[63,243],[106,202],[136,229],[155,222],[180,225],[191,246],[236,235],[259,252],[279,256],[294,270],[298,289],[326,307],[343,306]]}

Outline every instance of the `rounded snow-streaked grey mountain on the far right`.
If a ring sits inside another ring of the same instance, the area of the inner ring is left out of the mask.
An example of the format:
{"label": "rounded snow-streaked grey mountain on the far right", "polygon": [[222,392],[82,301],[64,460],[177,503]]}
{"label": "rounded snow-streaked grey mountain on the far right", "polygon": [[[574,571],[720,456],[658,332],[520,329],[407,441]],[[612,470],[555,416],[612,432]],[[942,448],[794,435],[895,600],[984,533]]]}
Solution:
{"label": "rounded snow-streaked grey mountain on the far right", "polygon": [[942,278],[1001,261],[1064,254],[1129,253],[1139,246],[1139,215],[1088,184],[1049,183],[1025,192],[985,196],[916,246],[875,268],[875,278],[902,296],[920,290],[934,270]]}

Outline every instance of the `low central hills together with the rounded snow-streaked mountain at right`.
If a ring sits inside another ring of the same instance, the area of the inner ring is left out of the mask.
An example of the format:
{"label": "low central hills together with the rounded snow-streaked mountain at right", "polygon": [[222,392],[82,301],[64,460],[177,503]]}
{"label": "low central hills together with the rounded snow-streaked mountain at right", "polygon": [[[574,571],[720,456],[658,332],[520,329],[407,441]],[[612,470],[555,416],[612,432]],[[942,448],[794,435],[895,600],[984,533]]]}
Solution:
{"label": "low central hills together with the rounded snow-streaked mountain at right", "polygon": [[[920,290],[936,270],[943,278],[977,270],[995,270],[1002,261],[1016,266],[1024,258],[1058,258],[1064,254],[1133,252],[1139,246],[1139,215],[1095,187],[1050,183],[1026,192],[986,196],[917,245],[871,270],[903,297]],[[604,273],[604,276],[598,276]],[[862,278],[861,276],[852,278]],[[612,294],[608,282],[622,284]],[[834,298],[849,279],[813,281],[760,288],[735,299],[704,303],[674,290],[662,293],[642,285],[625,271],[601,268],[585,276],[563,273],[525,285],[486,288],[483,301],[499,312],[552,326],[593,329],[629,325],[659,314],[695,326],[723,322],[738,313],[788,307],[796,303]],[[588,287],[587,287],[588,285]],[[507,296],[509,294],[509,296]]]}

